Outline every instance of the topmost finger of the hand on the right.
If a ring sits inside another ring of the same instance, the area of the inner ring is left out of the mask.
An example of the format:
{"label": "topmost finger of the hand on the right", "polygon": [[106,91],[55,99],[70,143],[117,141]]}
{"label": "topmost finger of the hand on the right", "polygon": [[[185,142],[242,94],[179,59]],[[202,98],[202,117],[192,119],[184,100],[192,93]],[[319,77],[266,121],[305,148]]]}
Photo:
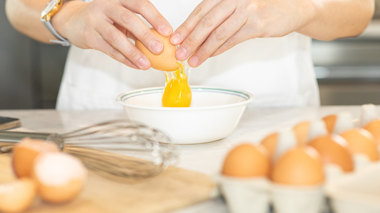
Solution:
{"label": "topmost finger of the hand on the right", "polygon": [[173,45],[181,44],[199,21],[221,0],[204,0],[190,13],[189,17],[174,31],[170,37]]}

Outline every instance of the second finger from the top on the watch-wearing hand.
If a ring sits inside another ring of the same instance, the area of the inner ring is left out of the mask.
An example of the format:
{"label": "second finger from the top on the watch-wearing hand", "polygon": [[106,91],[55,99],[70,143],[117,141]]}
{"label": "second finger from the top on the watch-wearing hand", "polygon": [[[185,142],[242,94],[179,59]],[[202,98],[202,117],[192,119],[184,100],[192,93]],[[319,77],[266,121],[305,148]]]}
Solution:
{"label": "second finger from the top on the watch-wearing hand", "polygon": [[[154,35],[152,30],[149,29],[144,22],[137,17],[136,14],[116,3],[114,4],[114,7],[107,7],[106,10],[106,14],[108,18],[110,18],[110,22],[115,22],[121,27],[129,30],[153,54],[162,53],[164,50],[164,44],[157,37],[157,35]],[[100,27],[101,26],[98,25],[98,28]],[[102,29],[98,29],[98,32],[101,30]],[[112,42],[110,43],[112,44]],[[114,47],[119,49],[118,46]]]}

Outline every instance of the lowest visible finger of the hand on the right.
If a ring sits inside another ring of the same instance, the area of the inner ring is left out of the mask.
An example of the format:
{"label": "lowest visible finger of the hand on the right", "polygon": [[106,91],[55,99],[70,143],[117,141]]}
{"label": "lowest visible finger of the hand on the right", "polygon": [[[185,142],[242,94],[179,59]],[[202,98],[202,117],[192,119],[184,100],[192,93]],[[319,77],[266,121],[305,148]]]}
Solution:
{"label": "lowest visible finger of the hand on the right", "polygon": [[191,55],[188,63],[191,67],[197,67],[208,59],[230,37],[235,35],[246,23],[246,19],[239,13],[232,14],[225,22],[217,27],[206,41]]}

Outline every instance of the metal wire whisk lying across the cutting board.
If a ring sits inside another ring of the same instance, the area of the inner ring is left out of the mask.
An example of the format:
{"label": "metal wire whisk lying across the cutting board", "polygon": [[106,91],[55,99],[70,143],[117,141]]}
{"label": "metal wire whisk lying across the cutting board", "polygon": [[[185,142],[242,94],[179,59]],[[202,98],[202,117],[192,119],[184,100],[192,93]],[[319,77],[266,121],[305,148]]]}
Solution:
{"label": "metal wire whisk lying across the cutting board", "polygon": [[0,153],[10,152],[22,138],[57,143],[90,170],[116,180],[152,177],[177,160],[174,144],[162,132],[127,120],[90,125],[64,134],[0,131]]}

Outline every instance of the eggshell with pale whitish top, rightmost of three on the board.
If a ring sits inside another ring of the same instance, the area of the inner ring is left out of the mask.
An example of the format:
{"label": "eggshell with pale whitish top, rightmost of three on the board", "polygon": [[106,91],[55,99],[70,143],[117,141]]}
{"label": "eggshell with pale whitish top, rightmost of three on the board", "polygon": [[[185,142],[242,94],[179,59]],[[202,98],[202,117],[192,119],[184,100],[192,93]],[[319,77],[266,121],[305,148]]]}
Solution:
{"label": "eggshell with pale whitish top, rightmost of three on the board", "polygon": [[50,203],[74,199],[87,179],[87,170],[76,157],[62,152],[38,155],[34,162],[35,177],[40,197]]}

